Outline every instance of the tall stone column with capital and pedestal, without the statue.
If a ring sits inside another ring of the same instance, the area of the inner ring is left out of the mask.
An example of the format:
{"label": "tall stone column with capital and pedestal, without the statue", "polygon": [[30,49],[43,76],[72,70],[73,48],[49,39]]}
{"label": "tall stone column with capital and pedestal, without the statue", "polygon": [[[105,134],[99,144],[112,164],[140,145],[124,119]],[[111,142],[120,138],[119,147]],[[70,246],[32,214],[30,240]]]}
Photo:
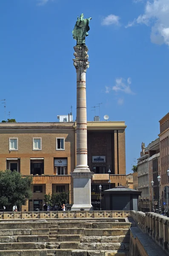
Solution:
{"label": "tall stone column with capital and pedestal, without the statue", "polygon": [[88,48],[84,46],[74,47],[74,67],[77,73],[77,145],[76,157],[77,166],[73,177],[73,201],[71,210],[80,210],[81,208],[92,210],[91,204],[91,178],[93,172],[90,172],[87,165],[87,113],[86,113],[86,70],[89,67]]}

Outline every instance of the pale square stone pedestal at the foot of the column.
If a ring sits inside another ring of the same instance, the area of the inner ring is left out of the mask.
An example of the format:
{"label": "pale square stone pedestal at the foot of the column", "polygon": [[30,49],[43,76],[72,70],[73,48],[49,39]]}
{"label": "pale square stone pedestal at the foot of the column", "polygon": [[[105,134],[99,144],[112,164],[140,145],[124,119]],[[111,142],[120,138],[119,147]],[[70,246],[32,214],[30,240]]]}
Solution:
{"label": "pale square stone pedestal at the foot of the column", "polygon": [[70,173],[73,178],[73,201],[72,211],[90,211],[93,209],[91,204],[91,179],[93,172],[89,168],[74,169]]}

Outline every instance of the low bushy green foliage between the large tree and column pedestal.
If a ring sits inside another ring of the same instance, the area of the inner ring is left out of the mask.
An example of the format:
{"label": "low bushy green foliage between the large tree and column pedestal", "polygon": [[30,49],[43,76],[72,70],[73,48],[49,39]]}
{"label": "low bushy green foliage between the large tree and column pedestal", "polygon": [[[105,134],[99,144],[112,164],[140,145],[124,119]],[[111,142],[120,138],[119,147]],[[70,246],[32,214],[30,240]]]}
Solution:
{"label": "low bushy green foliage between the large tree and column pedestal", "polygon": [[52,195],[46,194],[44,195],[45,202],[48,205],[54,207],[55,205],[60,206],[61,204],[65,203],[69,198],[69,193],[66,192],[56,192],[52,193]]}

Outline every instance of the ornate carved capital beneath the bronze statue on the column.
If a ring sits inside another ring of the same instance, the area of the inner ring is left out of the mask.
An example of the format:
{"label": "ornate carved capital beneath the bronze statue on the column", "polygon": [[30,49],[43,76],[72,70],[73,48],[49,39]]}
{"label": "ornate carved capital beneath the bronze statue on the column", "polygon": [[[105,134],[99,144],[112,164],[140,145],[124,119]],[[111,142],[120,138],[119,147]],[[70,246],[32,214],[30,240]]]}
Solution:
{"label": "ornate carved capital beneath the bronze statue on the column", "polygon": [[76,70],[78,70],[79,68],[83,68],[84,71],[86,71],[87,68],[89,67],[88,51],[89,49],[87,48],[86,45],[74,46],[75,58],[73,59],[73,64]]}

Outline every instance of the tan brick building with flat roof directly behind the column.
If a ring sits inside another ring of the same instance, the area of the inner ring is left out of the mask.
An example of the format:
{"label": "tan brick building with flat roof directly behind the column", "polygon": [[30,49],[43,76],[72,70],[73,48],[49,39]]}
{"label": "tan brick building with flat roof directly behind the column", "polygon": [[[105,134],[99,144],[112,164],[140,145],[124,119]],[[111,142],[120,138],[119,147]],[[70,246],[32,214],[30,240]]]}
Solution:
{"label": "tan brick building with flat roof directly behind the column", "polygon": [[[88,122],[88,165],[92,178],[92,205],[99,209],[100,192],[126,184],[125,122]],[[76,122],[0,123],[0,170],[32,175],[33,197],[22,210],[42,209],[46,193],[69,192],[73,204],[76,166]]]}

